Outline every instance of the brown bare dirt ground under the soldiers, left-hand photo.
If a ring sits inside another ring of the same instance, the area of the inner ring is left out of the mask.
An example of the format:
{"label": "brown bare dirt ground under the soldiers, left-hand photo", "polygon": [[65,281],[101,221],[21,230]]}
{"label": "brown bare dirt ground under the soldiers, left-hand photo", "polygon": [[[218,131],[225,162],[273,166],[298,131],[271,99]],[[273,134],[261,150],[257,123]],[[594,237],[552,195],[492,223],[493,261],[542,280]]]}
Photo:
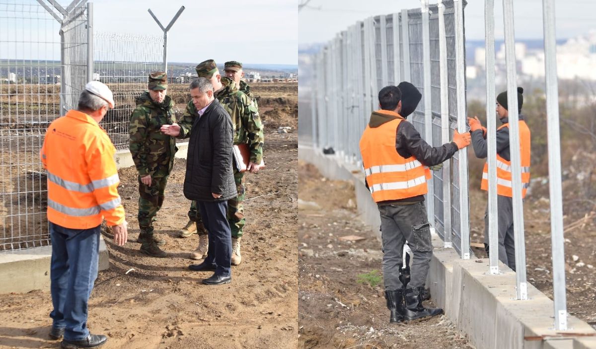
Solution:
{"label": "brown bare dirt ground under the soldiers, left-hand photo", "polygon": [[[275,91],[264,89],[264,94]],[[120,170],[120,195],[129,221],[124,247],[104,236],[110,269],[100,272],[89,301],[89,328],[110,336],[105,348],[294,348],[297,347],[297,86],[264,103],[266,168],[247,175],[247,225],[243,263],[232,283],[204,286],[209,272],[191,272],[196,235],[181,239],[190,201],[182,194],[185,160],[176,160],[156,232],[168,258],[139,252],[136,170]],[[280,111],[281,110],[281,111]],[[290,126],[278,133],[277,124]],[[128,270],[134,269],[128,272]],[[47,291],[0,297],[0,348],[58,348],[47,338],[51,320]]]}

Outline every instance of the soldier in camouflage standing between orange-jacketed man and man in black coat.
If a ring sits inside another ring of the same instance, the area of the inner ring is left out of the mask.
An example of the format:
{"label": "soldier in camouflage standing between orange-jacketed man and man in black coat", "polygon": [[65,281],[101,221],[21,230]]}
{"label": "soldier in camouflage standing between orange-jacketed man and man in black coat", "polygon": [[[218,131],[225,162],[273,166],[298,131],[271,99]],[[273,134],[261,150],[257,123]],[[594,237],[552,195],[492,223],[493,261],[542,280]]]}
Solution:
{"label": "soldier in camouflage standing between orange-jacketed man and man in black coat", "polygon": [[167,176],[172,171],[176,140],[163,135],[164,124],[175,123],[172,98],[167,95],[167,74],[149,74],[148,91],[136,99],[129,128],[132,160],[139,173],[139,238],[141,252],[153,257],[166,257],[158,245],[165,244],[153,233],[153,221],[162,207]]}

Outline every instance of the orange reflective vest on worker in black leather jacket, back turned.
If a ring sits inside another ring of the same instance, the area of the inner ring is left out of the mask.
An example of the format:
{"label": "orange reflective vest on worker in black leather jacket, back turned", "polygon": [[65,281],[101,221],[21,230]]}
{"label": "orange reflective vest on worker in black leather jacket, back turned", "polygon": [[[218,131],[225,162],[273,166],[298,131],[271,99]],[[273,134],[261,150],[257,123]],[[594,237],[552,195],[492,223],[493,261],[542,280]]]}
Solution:
{"label": "orange reflective vest on worker in black leather jacket, back turned", "polygon": [[428,167],[412,155],[404,158],[395,149],[399,123],[407,122],[399,114],[380,111],[399,118],[364,130],[360,138],[360,153],[368,188],[375,202],[417,197],[428,192]]}

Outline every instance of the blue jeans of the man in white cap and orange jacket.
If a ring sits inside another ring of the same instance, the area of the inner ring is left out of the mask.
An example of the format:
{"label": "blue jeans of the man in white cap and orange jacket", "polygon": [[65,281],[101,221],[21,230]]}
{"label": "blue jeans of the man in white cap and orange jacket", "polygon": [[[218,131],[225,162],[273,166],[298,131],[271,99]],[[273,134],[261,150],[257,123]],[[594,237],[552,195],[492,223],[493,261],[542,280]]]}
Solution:
{"label": "blue jeans of the man in white cap and orange jacket", "polygon": [[79,341],[89,335],[87,303],[95,279],[100,251],[100,226],[69,229],[49,223],[52,238],[50,267],[54,328],[64,328],[64,339]]}

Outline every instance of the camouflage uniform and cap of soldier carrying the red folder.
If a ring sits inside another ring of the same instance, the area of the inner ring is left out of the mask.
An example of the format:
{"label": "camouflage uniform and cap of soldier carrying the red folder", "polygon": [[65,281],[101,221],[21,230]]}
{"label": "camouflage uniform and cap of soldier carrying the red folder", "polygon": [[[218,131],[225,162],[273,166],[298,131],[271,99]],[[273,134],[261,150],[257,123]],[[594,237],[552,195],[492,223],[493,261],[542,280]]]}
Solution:
{"label": "camouflage uniform and cap of soldier carrying the red folder", "polygon": [[[215,63],[213,63],[215,65]],[[198,76],[211,77],[210,70],[200,70],[201,65],[197,66]],[[216,69],[216,68],[215,68]],[[238,90],[236,84],[227,77],[221,78],[224,87],[215,93],[215,98],[219,100],[228,114],[232,117],[234,125],[234,144],[248,144],[250,149],[250,161],[260,164],[263,160],[263,125],[260,121],[259,112],[253,101],[244,92]],[[181,127],[180,138],[190,135],[194,116],[197,110],[193,102],[189,102],[181,121],[178,123]],[[234,167],[234,180],[238,197],[228,201],[228,222],[232,230],[232,237],[242,236],[242,229],[246,220],[244,219],[244,173],[237,172]],[[196,202],[191,202],[188,216],[200,216],[197,211]]]}

